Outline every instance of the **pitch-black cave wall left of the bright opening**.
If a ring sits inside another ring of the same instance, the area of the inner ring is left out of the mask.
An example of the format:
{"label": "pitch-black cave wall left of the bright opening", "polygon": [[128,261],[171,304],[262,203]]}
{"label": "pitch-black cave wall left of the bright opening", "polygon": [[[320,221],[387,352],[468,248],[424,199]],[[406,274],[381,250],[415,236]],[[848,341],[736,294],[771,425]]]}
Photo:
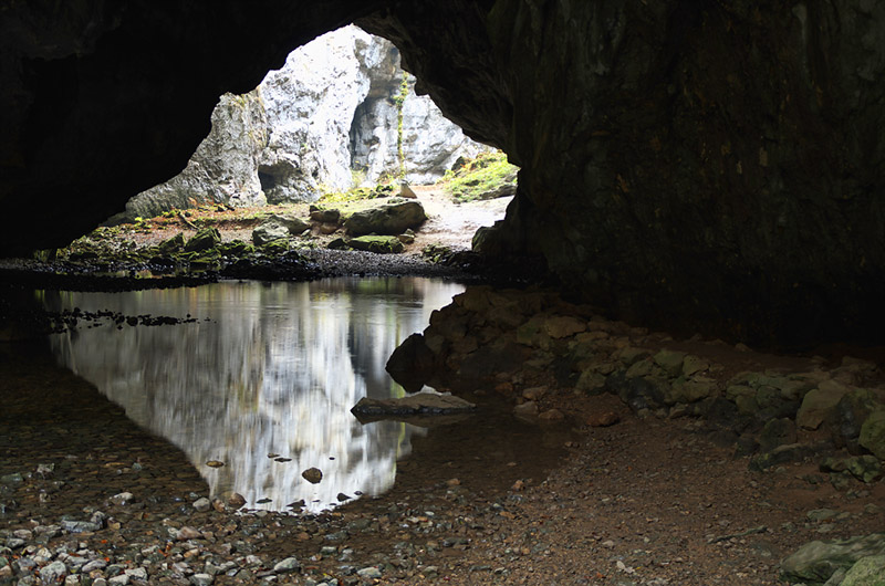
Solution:
{"label": "pitch-black cave wall left of the bright opening", "polygon": [[174,177],[220,95],[383,4],[3,0],[0,254],[65,245]]}

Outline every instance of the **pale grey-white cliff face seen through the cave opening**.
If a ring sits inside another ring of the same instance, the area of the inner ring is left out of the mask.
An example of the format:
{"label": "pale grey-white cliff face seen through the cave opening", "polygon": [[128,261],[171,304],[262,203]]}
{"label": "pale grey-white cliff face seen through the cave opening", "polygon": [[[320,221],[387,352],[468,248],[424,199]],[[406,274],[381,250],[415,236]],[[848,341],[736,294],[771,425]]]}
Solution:
{"label": "pale grey-white cliff face seen through the cave opening", "polygon": [[[315,201],[324,190],[374,185],[399,174],[399,51],[350,25],[293,51],[280,70],[241,96],[226,94],[212,130],[187,167],[144,191],[125,216],[149,217],[171,208],[217,202],[233,207]],[[465,137],[433,101],[415,93],[403,102],[405,179],[439,179],[458,157],[483,145]],[[353,170],[357,172],[353,172]]]}

